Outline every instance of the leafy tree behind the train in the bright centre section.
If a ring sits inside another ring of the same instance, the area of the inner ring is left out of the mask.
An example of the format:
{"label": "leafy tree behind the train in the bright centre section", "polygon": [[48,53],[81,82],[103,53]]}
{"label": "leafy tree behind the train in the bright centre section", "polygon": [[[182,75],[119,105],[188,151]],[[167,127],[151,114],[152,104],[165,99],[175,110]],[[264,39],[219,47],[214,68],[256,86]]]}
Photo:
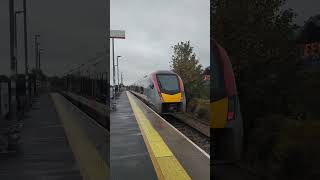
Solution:
{"label": "leafy tree behind the train in the bright centre section", "polygon": [[199,98],[203,85],[203,70],[199,59],[193,52],[190,41],[179,42],[173,47],[171,70],[177,73],[183,80],[187,103],[192,98]]}

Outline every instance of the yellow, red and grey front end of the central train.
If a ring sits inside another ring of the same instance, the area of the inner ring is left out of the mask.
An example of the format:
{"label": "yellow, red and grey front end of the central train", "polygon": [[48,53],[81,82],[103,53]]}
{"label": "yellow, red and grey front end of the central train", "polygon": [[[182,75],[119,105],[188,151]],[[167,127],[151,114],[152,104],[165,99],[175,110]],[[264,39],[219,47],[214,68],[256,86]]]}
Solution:
{"label": "yellow, red and grey front end of the central train", "polygon": [[186,98],[181,78],[172,71],[152,74],[158,100],[157,109],[161,114],[185,112]]}

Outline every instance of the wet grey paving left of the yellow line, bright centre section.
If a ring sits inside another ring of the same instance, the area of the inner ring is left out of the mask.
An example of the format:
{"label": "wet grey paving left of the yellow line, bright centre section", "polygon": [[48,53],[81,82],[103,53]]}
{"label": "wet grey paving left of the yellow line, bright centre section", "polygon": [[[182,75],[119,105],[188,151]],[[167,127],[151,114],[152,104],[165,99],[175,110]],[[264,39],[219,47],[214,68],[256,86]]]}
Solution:
{"label": "wet grey paving left of the yellow line, bright centre section", "polygon": [[111,179],[157,179],[126,93],[117,99],[117,110],[110,112]]}

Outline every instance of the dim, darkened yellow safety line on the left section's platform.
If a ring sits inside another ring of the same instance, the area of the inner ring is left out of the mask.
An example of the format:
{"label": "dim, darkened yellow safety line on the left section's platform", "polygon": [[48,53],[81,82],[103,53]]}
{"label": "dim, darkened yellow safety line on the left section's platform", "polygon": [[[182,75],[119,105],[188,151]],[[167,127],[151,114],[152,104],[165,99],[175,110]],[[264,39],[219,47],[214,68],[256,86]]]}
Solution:
{"label": "dim, darkened yellow safety line on the left section's platform", "polygon": [[80,172],[84,180],[109,179],[109,168],[88,136],[77,124],[74,117],[65,104],[61,95],[54,93],[51,98],[63,123],[71,149],[80,166]]}

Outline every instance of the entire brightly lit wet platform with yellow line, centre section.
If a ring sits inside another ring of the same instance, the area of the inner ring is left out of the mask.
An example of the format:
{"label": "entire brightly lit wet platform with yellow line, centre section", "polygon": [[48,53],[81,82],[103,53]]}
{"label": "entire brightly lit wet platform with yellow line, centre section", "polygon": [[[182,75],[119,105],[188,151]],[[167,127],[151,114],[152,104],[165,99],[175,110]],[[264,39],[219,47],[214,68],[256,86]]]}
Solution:
{"label": "entire brightly lit wet platform with yellow line, centre section", "polygon": [[210,156],[132,93],[110,117],[111,179],[210,179]]}

